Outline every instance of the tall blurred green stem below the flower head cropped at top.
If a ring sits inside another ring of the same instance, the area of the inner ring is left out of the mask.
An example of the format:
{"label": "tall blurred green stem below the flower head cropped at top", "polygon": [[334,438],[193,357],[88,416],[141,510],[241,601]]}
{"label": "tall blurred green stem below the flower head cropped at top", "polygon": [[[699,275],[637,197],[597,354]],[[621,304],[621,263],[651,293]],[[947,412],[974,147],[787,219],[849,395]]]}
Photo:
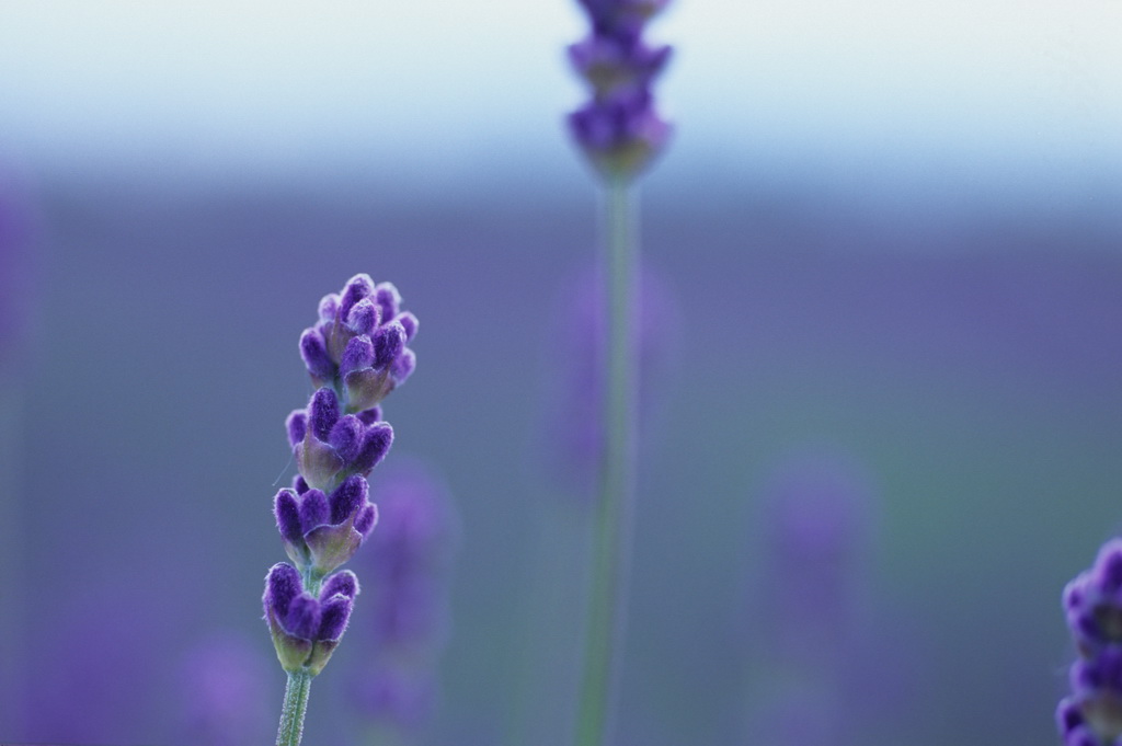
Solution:
{"label": "tall blurred green stem below the flower head cropped at top", "polygon": [[577,746],[607,743],[619,675],[631,558],[635,470],[635,350],[633,302],[637,243],[626,182],[608,184],[607,387],[604,450],[592,537],[591,592],[585,629],[585,662],[577,710]]}

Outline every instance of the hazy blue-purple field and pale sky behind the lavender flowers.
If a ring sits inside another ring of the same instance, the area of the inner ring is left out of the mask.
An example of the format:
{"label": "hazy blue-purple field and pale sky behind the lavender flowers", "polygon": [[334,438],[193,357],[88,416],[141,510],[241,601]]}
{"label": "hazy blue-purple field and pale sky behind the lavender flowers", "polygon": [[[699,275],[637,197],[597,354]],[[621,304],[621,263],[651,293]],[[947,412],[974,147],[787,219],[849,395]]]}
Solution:
{"label": "hazy blue-purple field and pale sky behind the lavender flowers", "polygon": [[[434,464],[462,524],[419,743],[563,743],[582,29],[567,0],[0,11],[0,740],[199,743],[184,671],[221,637],[270,743],[296,340],[368,271],[422,321],[390,460]],[[840,710],[839,745],[1056,743],[1059,593],[1122,519],[1122,3],[679,0],[652,36],[678,130],[644,252],[678,321],[618,743],[782,746],[755,734],[784,707]],[[773,660],[767,591],[769,486],[808,449],[865,494],[820,671]],[[355,742],[361,601],[310,743]]]}

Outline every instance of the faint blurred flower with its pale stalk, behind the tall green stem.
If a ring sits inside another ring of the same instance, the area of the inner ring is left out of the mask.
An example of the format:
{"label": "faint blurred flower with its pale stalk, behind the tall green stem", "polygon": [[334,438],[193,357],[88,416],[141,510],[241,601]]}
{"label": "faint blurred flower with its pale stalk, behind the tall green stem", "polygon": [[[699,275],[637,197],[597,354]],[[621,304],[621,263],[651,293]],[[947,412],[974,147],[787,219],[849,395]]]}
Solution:
{"label": "faint blurred flower with its pale stalk, behind the tall green stem", "polygon": [[[640,267],[636,284],[638,352],[636,448],[642,461],[662,414],[661,396],[674,361],[680,314],[670,284],[651,267]],[[588,547],[588,509],[604,453],[604,352],[607,298],[598,267],[565,279],[558,294],[549,340],[545,417],[539,451],[550,488],[534,529],[535,561],[527,563],[522,600],[513,715],[507,743],[563,743],[570,739],[574,684],[572,650],[580,645]],[[541,671],[550,671],[542,676]]]}

